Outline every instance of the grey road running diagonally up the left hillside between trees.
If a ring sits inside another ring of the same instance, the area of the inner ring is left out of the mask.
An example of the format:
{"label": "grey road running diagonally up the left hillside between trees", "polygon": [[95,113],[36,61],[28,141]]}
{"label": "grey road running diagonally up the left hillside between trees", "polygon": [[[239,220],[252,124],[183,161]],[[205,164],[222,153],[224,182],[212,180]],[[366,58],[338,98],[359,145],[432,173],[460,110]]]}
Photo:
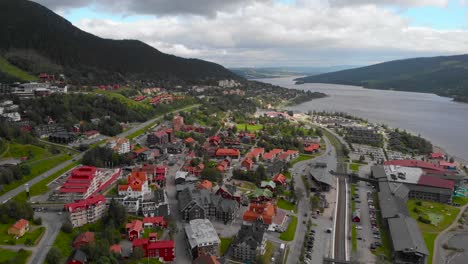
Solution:
{"label": "grey road running diagonally up the left hillside between trees", "polygon": [[[182,108],[182,109],[174,110],[174,111],[172,111],[171,113],[177,113],[177,112],[180,112],[180,111],[186,111],[186,110],[189,110],[189,109],[198,107],[198,106],[200,106],[200,105],[188,106],[188,107],[185,107],[185,108]],[[136,131],[138,131],[138,130],[140,130],[140,129],[143,129],[143,128],[145,128],[146,126],[149,126],[149,125],[151,125],[152,123],[154,123],[154,122],[156,122],[156,121],[162,119],[163,117],[164,117],[164,116],[159,116],[159,117],[150,119],[150,120],[148,120],[148,121],[146,121],[146,122],[144,122],[144,123],[138,124],[137,126],[131,128],[131,129],[127,130],[127,131],[124,131],[124,132],[120,133],[120,134],[117,135],[117,136],[118,136],[118,137],[127,137],[127,136],[129,136],[130,134],[132,134],[132,133],[134,133],[134,132],[136,132]],[[102,145],[104,145],[104,143],[103,143]],[[50,175],[56,173],[57,171],[59,171],[59,170],[65,168],[66,166],[72,164],[72,163],[74,162],[74,160],[80,160],[80,159],[82,159],[85,153],[86,153],[86,151],[85,151],[85,152],[82,152],[82,153],[80,153],[80,154],[78,154],[78,155],[76,155],[76,156],[74,156],[72,160],[67,160],[67,161],[61,163],[60,165],[58,165],[58,166],[56,166],[56,167],[54,167],[54,168],[52,168],[52,169],[50,169],[50,170],[44,172],[43,174],[41,174],[41,175],[39,175],[39,176],[37,176],[37,177],[35,177],[35,178],[29,180],[29,181],[26,182],[25,184],[28,184],[29,187],[33,186],[34,184],[38,183],[38,182],[41,181],[42,179],[47,178],[47,177],[49,177]],[[25,184],[20,185],[20,186],[18,186],[17,188],[15,188],[15,189],[13,189],[13,190],[10,190],[10,191],[8,191],[8,192],[6,192],[6,193],[0,195],[0,202],[6,203],[6,202],[7,202],[8,200],[10,200],[11,198],[13,198],[13,197],[15,197],[16,195],[20,194],[21,192],[25,191],[25,187],[24,187]]]}

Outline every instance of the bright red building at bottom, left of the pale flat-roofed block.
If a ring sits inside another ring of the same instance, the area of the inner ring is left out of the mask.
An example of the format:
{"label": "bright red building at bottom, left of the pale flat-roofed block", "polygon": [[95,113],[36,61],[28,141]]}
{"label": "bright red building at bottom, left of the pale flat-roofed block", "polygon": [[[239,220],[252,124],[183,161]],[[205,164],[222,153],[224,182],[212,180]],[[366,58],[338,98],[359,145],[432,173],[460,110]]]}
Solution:
{"label": "bright red building at bottom, left of the pale flat-roofed block", "polygon": [[168,262],[175,259],[174,240],[158,241],[155,233],[150,234],[149,238],[135,239],[132,248],[135,250],[137,247],[143,249],[145,258],[161,258]]}

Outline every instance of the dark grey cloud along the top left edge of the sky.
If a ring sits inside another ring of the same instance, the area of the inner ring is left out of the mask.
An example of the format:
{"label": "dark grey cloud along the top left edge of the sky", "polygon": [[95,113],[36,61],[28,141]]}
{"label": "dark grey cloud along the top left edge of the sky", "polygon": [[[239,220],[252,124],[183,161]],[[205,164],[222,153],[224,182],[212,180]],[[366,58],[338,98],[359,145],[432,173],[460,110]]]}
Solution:
{"label": "dark grey cloud along the top left edge of the sky", "polygon": [[216,16],[218,11],[233,11],[255,2],[271,0],[34,0],[48,8],[64,12],[68,9],[92,6],[105,12],[123,15],[200,15]]}

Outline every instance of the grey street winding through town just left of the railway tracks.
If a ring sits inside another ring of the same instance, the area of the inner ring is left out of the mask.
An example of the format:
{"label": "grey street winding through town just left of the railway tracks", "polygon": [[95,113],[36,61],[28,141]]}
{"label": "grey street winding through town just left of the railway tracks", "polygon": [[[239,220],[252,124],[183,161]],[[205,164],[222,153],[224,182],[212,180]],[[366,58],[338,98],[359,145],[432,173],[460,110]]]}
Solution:
{"label": "grey street winding through town just left of the railway tracks", "polygon": [[[294,177],[294,182],[295,182],[295,187],[296,190],[302,189],[304,191],[304,196],[302,199],[299,201],[297,209],[297,228],[296,228],[296,234],[294,236],[294,240],[289,243],[289,254],[288,254],[288,260],[287,263],[290,264],[296,264],[298,263],[299,257],[301,255],[301,250],[302,250],[302,245],[304,243],[304,236],[307,233],[307,221],[309,220],[310,216],[310,207],[309,207],[309,198],[306,196],[306,189],[304,186],[304,182],[302,181],[302,175],[307,175],[308,170],[310,167],[310,164],[320,161],[320,162],[326,162],[329,166],[329,168],[334,168],[336,166],[336,156],[334,155],[335,149],[333,146],[330,144],[328,139],[325,138],[325,143],[327,146],[327,151],[323,155],[316,157],[314,159],[310,160],[305,160],[298,162],[294,164],[291,175]],[[328,154],[330,152],[330,154]],[[330,177],[333,177],[330,175]],[[304,216],[304,214],[307,213],[307,217]],[[306,224],[303,223],[303,221],[306,222]],[[323,221],[326,222],[326,221]],[[320,232],[320,230],[318,230]],[[315,248],[314,251],[317,249]],[[326,252],[325,250],[322,249],[323,254],[321,254],[321,259],[323,258],[323,255],[325,255]],[[317,261],[321,261],[317,260]],[[319,262],[314,262],[314,263],[319,263]]]}

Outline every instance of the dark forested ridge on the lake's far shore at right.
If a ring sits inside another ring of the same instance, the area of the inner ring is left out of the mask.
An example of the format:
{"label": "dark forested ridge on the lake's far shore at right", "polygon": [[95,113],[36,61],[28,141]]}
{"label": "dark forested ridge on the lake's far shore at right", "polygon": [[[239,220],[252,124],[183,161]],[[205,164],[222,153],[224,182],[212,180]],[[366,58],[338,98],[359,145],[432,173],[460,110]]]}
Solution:
{"label": "dark forested ridge on the lake's far shore at right", "polygon": [[468,55],[389,61],[296,79],[297,83],[334,83],[371,89],[435,93],[468,102]]}

